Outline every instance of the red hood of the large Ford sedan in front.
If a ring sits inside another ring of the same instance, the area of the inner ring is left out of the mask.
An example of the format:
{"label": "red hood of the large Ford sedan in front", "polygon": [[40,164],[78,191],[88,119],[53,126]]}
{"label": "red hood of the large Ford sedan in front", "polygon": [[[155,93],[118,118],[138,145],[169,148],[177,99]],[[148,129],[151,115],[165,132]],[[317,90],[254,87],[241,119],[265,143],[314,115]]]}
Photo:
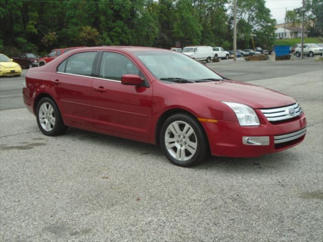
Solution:
{"label": "red hood of the large Ford sedan in front", "polygon": [[292,97],[280,92],[244,82],[217,81],[172,85],[214,101],[238,102],[252,108],[280,107],[296,102]]}

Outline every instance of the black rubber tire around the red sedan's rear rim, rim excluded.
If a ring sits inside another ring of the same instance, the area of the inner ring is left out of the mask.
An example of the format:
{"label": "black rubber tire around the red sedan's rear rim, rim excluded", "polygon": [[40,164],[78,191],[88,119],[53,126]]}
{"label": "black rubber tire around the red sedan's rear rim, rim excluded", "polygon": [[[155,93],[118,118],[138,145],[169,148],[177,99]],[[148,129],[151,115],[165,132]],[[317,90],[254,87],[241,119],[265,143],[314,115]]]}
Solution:
{"label": "black rubber tire around the red sedan's rear rim, rim excluded", "polygon": [[[44,102],[48,102],[52,108],[54,109],[55,112],[55,125],[53,127],[53,129],[51,131],[45,131],[39,122],[39,108],[40,106],[44,103]],[[65,125],[63,124],[63,120],[62,120],[62,116],[61,116],[61,112],[58,108],[58,106],[56,105],[56,103],[51,100],[48,97],[44,97],[42,98],[38,103],[37,103],[37,107],[36,107],[36,121],[37,121],[37,125],[39,130],[46,136],[56,136],[62,133],[62,129],[65,128]]]}

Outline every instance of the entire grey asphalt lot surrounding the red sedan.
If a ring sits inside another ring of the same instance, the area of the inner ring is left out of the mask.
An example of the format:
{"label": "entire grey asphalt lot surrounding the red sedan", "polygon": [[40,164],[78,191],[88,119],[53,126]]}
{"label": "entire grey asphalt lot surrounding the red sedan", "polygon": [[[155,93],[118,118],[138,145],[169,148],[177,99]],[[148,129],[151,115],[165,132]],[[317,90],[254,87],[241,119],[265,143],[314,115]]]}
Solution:
{"label": "entire grey asphalt lot surrounding the red sedan", "polygon": [[1,78],[0,241],[322,241],[322,62],[208,66],[296,98],[304,142],[177,167],[153,145],[77,129],[42,135],[10,91],[22,78]]}

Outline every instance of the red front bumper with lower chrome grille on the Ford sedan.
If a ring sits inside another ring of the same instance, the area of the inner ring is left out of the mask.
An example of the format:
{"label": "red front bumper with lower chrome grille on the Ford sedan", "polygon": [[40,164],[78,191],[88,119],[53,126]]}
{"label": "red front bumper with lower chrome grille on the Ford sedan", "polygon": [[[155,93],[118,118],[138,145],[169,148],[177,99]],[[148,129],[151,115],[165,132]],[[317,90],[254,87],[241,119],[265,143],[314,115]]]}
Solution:
{"label": "red front bumper with lower chrome grille on the Ford sedan", "polygon": [[[289,149],[304,140],[307,125],[304,113],[276,124],[262,122],[257,127],[242,127],[238,122],[224,120],[218,120],[216,124],[201,124],[205,129],[212,155],[227,157],[257,157]],[[269,137],[269,143],[248,145],[244,144],[244,137]]]}

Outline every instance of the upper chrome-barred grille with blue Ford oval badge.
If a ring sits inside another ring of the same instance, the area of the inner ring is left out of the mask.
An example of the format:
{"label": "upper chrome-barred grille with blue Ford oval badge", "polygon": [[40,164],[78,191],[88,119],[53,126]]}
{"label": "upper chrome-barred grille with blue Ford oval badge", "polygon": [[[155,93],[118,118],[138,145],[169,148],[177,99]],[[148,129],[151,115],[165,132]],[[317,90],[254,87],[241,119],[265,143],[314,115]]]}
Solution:
{"label": "upper chrome-barred grille with blue Ford oval badge", "polygon": [[[293,110],[294,109],[294,110]],[[298,103],[277,108],[260,109],[269,122],[277,122],[297,117],[303,112]]]}

